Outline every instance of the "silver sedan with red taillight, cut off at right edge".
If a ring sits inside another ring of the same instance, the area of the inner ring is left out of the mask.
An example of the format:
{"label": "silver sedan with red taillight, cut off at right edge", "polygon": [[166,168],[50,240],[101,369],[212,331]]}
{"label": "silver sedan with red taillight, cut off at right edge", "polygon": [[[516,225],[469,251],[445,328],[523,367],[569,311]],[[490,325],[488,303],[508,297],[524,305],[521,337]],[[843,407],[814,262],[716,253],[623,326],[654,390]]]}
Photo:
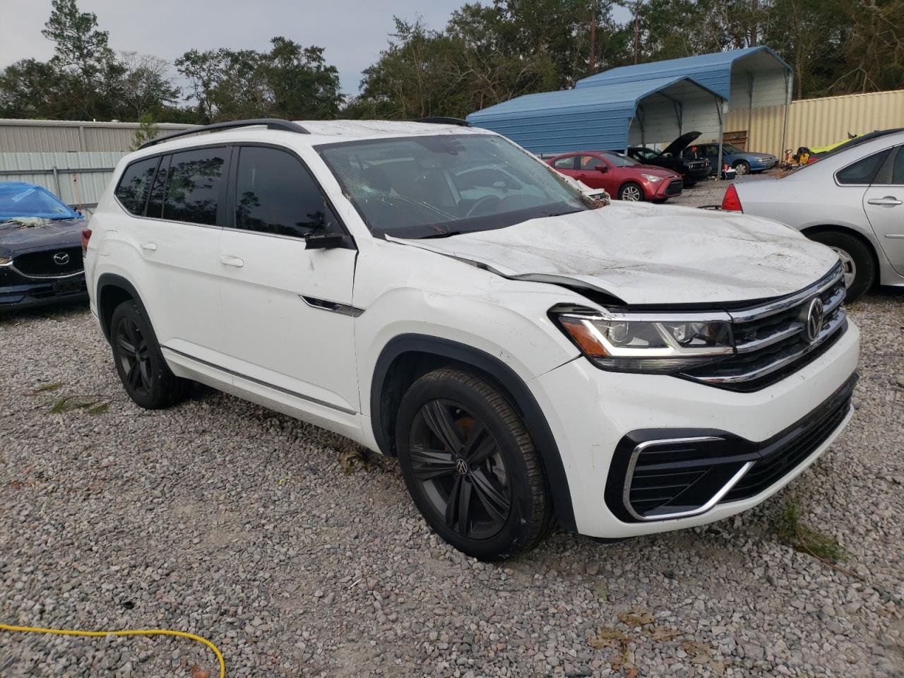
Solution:
{"label": "silver sedan with red taillight, cut off at right edge", "polygon": [[722,209],[786,223],[838,252],[848,301],[904,287],[904,130],[857,137],[775,181],[731,184]]}

